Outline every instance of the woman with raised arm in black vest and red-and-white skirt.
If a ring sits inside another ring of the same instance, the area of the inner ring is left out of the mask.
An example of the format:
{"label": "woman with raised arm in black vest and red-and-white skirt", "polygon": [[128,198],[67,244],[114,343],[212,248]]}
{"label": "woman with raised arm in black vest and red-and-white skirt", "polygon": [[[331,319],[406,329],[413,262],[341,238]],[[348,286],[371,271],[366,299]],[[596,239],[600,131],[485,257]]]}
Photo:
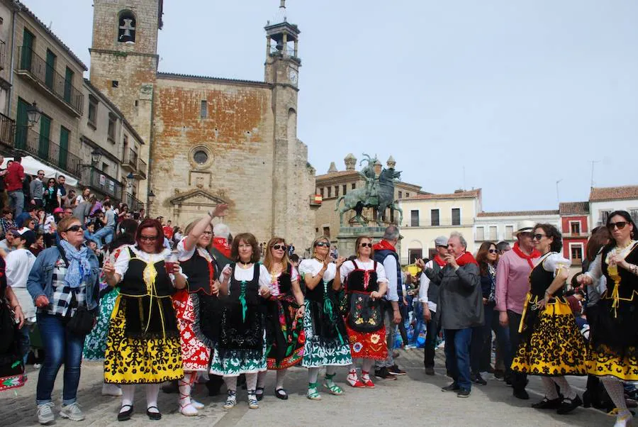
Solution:
{"label": "woman with raised arm in black vest and red-and-white skirt", "polygon": [[177,243],[177,259],[188,286],[173,295],[181,340],[184,378],[178,380],[179,412],[195,416],[203,404],[191,398],[197,372],[207,372],[211,348],[218,339],[218,284],[208,249],[213,241],[211,221],[223,216],[228,206],[220,204],[204,218],[186,226],[186,237]]}

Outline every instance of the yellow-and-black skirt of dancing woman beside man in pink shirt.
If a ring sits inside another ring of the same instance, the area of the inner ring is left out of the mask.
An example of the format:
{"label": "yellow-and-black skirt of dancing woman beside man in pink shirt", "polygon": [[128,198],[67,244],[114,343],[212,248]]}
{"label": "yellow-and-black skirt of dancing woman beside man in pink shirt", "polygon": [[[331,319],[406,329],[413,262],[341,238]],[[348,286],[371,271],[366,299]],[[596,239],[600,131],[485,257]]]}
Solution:
{"label": "yellow-and-black skirt of dancing woman beside man in pink shirt", "polygon": [[585,341],[569,304],[559,297],[539,313],[532,309],[537,296],[534,299],[528,301],[521,321],[525,329],[512,370],[546,377],[586,375]]}

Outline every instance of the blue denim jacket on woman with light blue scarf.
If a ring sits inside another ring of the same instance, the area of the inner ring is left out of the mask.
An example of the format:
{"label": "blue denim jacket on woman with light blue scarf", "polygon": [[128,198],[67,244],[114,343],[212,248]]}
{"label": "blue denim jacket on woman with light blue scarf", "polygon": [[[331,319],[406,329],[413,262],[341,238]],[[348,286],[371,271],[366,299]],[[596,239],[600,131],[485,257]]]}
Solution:
{"label": "blue denim jacket on woman with light blue scarf", "polygon": [[[35,258],[27,279],[27,290],[33,301],[40,295],[45,295],[49,301],[53,299],[53,268],[57,260],[63,256],[64,250],[60,246],[52,246],[40,252]],[[100,265],[91,250],[89,250],[89,264],[91,264],[91,273],[86,280],[86,306],[89,310],[95,310],[99,298]]]}

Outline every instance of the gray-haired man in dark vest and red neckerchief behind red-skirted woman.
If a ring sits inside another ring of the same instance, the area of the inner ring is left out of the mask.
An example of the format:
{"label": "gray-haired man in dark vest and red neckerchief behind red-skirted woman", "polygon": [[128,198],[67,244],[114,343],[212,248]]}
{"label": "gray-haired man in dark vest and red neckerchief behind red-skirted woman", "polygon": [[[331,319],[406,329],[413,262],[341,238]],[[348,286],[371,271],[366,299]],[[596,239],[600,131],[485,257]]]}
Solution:
{"label": "gray-haired man in dark vest and red neckerchief behind red-skirted woman", "polygon": [[396,253],[396,245],[400,237],[396,226],[388,226],[384,232],[384,238],[373,246],[374,260],[384,265],[386,277],[388,277],[388,293],[384,296],[384,323],[386,325],[386,344],[388,345],[388,358],[382,362],[376,362],[376,377],[396,379],[396,375],[405,375],[394,362],[394,337],[396,326],[401,322],[399,301],[403,300],[403,280],[401,279],[401,262]]}

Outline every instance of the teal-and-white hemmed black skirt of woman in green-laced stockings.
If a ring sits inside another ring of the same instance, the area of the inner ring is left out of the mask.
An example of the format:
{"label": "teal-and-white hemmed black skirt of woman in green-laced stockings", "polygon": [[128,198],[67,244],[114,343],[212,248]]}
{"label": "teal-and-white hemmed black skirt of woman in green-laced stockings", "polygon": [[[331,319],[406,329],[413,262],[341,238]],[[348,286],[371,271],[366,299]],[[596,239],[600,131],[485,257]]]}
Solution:
{"label": "teal-and-white hemmed black skirt of woman in green-laced stockings", "polygon": [[[350,345],[343,325],[333,325],[334,334],[332,334],[332,336],[320,336],[319,334],[315,334],[315,331],[318,329],[323,329],[323,331],[328,330],[328,325],[323,325],[318,328],[318,325],[315,324],[317,316],[313,316],[313,313],[319,310],[322,310],[320,303],[306,299],[306,313],[303,315],[303,331],[306,332],[306,345],[303,348],[301,366],[322,367],[330,365],[352,365]],[[337,321],[343,321],[340,315],[336,317]],[[343,330],[344,333],[342,333],[341,330]]]}

